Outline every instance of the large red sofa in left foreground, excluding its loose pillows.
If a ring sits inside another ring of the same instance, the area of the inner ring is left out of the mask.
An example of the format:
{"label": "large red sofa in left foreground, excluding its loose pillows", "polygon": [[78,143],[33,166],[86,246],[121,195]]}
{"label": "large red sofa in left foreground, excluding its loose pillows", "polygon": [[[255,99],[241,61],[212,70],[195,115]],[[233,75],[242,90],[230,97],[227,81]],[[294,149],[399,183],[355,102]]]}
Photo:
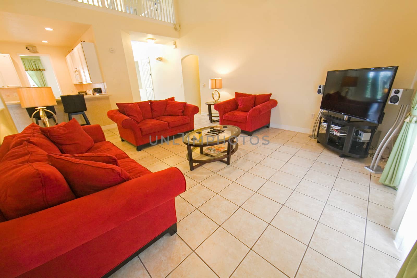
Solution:
{"label": "large red sofa in left foreground, excluding its loose pillows", "polygon": [[[151,173],[106,141],[99,125],[82,128],[94,141],[86,153],[114,155],[134,178],[18,218],[8,220],[0,212],[0,277],[108,276],[165,233],[176,232],[174,198],[186,189],[181,171],[171,167]],[[23,145],[53,147],[39,128],[27,134]],[[3,158],[13,153],[16,136],[6,136],[0,146],[2,169],[10,163]],[[26,158],[18,159],[25,163]],[[0,203],[7,200],[1,186],[10,176],[0,178]]]}

